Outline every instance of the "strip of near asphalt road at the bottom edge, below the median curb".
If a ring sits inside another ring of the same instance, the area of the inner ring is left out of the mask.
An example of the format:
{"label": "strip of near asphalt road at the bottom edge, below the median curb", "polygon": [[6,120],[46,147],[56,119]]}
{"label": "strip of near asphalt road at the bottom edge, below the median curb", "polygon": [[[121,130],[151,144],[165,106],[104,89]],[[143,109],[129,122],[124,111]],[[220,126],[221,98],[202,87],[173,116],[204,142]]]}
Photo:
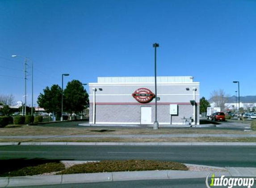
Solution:
{"label": "strip of near asphalt road at the bottom edge, below the median curb", "polygon": [[[61,184],[29,186],[27,188],[206,188],[206,179],[179,179],[179,180],[139,180],[98,182],[86,184]],[[253,186],[255,187],[255,186]],[[218,188],[224,188],[218,186]]]}

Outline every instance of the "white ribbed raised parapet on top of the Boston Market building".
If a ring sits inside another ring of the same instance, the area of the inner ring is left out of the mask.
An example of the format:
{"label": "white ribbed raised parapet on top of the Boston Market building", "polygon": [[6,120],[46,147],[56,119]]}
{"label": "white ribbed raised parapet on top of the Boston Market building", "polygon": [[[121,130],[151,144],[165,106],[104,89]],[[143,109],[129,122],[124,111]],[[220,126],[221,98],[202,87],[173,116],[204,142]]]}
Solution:
{"label": "white ribbed raised parapet on top of the Boston Market building", "polygon": [[[163,76],[157,83],[192,83],[192,76]],[[155,77],[98,77],[97,83],[155,83]]]}

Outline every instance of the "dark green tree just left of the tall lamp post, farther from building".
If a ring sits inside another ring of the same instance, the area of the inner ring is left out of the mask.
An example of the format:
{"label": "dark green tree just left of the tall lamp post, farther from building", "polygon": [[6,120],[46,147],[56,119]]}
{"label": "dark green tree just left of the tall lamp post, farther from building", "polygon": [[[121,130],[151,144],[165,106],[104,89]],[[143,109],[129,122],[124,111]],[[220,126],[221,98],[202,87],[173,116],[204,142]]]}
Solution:
{"label": "dark green tree just left of the tall lamp post, farther from building", "polygon": [[61,111],[62,90],[59,85],[48,86],[43,90],[44,94],[38,96],[38,105],[49,112]]}

